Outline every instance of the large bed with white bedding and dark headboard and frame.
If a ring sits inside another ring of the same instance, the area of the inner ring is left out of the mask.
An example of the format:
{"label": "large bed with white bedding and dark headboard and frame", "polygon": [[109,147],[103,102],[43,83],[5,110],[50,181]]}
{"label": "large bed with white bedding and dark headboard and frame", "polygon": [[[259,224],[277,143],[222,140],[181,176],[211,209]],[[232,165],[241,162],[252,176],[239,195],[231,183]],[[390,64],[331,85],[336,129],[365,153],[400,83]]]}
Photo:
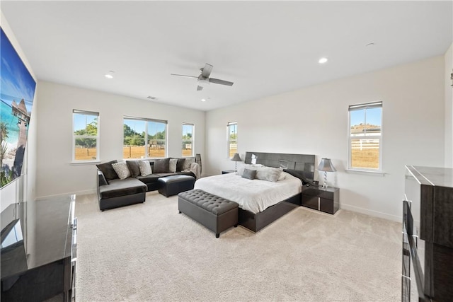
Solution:
{"label": "large bed with white bedding and dark headboard and frame", "polygon": [[268,226],[301,204],[302,185],[313,182],[315,156],[246,152],[244,163],[283,168],[284,180],[248,180],[236,173],[200,178],[194,189],[239,204],[239,224],[253,232]]}

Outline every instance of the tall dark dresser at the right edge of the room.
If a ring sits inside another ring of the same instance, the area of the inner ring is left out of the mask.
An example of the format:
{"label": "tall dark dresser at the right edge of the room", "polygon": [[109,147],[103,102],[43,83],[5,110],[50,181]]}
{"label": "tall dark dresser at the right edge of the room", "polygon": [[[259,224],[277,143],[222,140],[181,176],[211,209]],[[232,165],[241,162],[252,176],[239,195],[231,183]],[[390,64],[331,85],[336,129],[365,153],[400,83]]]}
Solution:
{"label": "tall dark dresser at the right edge of the room", "polygon": [[406,165],[402,301],[453,301],[453,169]]}

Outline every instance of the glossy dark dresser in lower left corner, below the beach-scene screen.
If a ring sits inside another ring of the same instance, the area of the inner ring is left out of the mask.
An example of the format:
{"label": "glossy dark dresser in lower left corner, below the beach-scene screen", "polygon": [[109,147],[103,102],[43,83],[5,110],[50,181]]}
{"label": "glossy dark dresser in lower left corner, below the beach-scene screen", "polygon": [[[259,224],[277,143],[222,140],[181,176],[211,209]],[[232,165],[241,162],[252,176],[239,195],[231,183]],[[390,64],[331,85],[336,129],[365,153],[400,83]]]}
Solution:
{"label": "glossy dark dresser in lower left corner, below the beach-scene screen", "polygon": [[1,301],[75,301],[75,195],[1,212]]}

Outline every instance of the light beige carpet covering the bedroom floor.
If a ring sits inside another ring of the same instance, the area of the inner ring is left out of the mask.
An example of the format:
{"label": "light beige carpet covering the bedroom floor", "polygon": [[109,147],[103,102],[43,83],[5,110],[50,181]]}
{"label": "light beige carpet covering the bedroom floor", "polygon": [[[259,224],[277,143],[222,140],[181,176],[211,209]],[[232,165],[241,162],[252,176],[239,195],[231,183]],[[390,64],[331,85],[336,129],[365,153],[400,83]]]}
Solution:
{"label": "light beige carpet covering the bedroom floor", "polygon": [[177,203],[78,196],[76,301],[401,301],[401,223],[299,207],[215,238]]}

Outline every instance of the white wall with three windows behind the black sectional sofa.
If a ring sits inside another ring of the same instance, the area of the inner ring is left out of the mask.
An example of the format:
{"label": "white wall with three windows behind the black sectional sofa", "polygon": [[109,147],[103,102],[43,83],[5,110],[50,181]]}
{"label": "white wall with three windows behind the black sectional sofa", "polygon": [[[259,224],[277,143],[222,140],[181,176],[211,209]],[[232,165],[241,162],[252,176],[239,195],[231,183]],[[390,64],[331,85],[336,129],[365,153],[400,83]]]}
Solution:
{"label": "white wall with three windows behind the black sectional sofa", "polygon": [[[96,165],[71,163],[72,110],[99,112],[99,160],[122,159],[123,116],[168,120],[168,156],[181,156],[183,122],[195,124],[205,159],[205,112],[84,88],[39,82],[37,196],[96,192]],[[204,164],[203,164],[204,166]]]}

